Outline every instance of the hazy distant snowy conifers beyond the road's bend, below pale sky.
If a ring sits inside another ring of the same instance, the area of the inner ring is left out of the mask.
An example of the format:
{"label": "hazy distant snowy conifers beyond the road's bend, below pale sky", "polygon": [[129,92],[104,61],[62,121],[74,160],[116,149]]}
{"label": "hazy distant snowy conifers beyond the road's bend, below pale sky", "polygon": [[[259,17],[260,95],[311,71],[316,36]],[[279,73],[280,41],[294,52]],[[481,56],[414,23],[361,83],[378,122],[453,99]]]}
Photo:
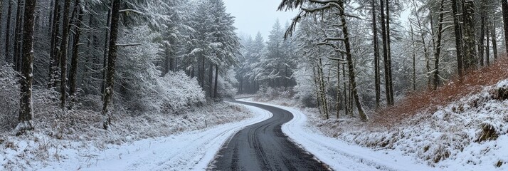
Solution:
{"label": "hazy distant snowy conifers beyond the road's bend, below pale sky", "polygon": [[282,28],[277,20],[266,42],[261,33],[242,38],[243,58],[236,68],[239,93],[255,93],[262,86],[286,90],[296,85],[296,46],[284,39],[287,26]]}

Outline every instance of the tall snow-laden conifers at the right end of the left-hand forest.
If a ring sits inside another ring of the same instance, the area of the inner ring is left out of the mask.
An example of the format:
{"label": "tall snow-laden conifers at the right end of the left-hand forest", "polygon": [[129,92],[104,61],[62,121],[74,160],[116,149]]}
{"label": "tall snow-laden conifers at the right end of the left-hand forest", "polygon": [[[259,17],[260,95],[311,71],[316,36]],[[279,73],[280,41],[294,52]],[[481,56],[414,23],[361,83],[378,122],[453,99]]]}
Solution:
{"label": "tall snow-laden conifers at the right end of the left-hand forest", "polygon": [[191,76],[198,73],[199,83],[210,98],[220,98],[218,78],[226,76],[226,71],[238,64],[240,56],[241,45],[234,32],[234,18],[226,13],[226,6],[221,0],[199,1],[192,18],[189,26],[194,28],[195,33],[191,34],[188,44],[191,48],[185,55],[189,57],[185,68],[190,70]]}

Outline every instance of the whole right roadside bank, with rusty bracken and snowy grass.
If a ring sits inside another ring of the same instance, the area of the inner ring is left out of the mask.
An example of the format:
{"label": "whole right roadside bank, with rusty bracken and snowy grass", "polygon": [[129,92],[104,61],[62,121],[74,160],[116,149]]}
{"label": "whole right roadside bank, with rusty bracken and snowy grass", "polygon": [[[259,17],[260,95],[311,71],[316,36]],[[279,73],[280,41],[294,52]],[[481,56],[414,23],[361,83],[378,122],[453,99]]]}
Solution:
{"label": "whole right roadside bank, with rusty bracken and snowy grass", "polygon": [[[497,73],[497,77],[508,78],[505,73]],[[370,111],[368,122],[361,122],[354,115],[336,118],[332,114],[326,119],[316,108],[301,108],[295,99],[250,100],[301,110],[308,118],[308,127],[339,140],[337,143],[405,155],[412,158],[410,162],[438,170],[508,170],[508,80],[479,77],[477,84],[469,82],[467,86],[429,93],[433,95],[432,103],[426,103],[420,95],[419,102],[415,98],[393,108]],[[443,95],[448,97],[443,100]],[[411,105],[417,102],[424,105]]]}

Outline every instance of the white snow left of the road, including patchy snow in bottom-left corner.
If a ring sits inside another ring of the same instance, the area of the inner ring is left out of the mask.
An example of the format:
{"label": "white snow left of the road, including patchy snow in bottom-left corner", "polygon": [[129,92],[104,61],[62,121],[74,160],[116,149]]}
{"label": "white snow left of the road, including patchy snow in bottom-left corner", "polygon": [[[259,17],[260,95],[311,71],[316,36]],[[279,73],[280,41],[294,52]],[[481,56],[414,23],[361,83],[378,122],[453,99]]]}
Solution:
{"label": "white snow left of the road, including patchy snow in bottom-left corner", "polygon": [[[59,156],[58,160],[23,164],[9,162],[3,165],[7,170],[205,170],[228,138],[246,125],[259,123],[272,116],[268,111],[245,107],[255,117],[164,138],[107,145],[101,149],[83,142],[61,140],[59,147],[48,149],[53,157]],[[0,152],[0,158],[16,161],[15,158],[20,157],[17,152],[19,148],[41,147],[41,142],[49,141],[43,135],[35,137],[41,138],[16,142],[16,148],[6,148],[5,152]],[[16,165],[23,165],[24,169],[11,167]]]}

